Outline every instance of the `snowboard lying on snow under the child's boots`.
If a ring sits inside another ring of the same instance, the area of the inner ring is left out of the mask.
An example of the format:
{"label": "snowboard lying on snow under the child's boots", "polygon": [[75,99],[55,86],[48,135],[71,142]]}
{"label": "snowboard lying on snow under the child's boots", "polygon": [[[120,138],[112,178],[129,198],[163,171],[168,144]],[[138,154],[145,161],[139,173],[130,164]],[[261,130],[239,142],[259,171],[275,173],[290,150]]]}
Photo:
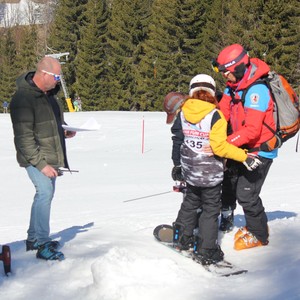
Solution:
{"label": "snowboard lying on snow under the child's boots", "polygon": [[193,249],[190,250],[179,250],[173,247],[173,227],[171,225],[162,224],[155,227],[153,235],[160,244],[166,246],[170,250],[193,260],[194,262],[200,264],[206,271],[221,277],[228,277],[232,275],[240,275],[247,273],[248,270],[241,269],[229,261],[223,260],[216,264],[202,265],[195,256],[193,255]]}

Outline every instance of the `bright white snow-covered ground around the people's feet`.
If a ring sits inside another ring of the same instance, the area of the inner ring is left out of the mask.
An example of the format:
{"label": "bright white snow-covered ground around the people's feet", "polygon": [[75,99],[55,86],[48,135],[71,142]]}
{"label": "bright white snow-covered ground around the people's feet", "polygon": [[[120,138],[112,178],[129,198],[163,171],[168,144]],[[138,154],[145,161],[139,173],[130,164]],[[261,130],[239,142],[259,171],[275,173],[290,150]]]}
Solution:
{"label": "bright white snow-covered ground around the people's feet", "polygon": [[[249,272],[217,278],[152,236],[156,225],[174,221],[182,200],[171,192],[165,114],[79,112],[65,118],[72,126],[94,118],[101,128],[67,140],[70,166],[79,173],[58,178],[51,215],[52,237],[62,244],[66,259],[47,262],[25,251],[34,188],[17,165],[10,117],[0,115],[0,244],[11,247],[13,271],[5,277],[0,262],[1,300],[300,299],[296,138],[280,150],[261,194],[270,244],[238,252],[233,250],[236,230],[220,234],[226,259]],[[235,223],[244,224],[239,206]]]}

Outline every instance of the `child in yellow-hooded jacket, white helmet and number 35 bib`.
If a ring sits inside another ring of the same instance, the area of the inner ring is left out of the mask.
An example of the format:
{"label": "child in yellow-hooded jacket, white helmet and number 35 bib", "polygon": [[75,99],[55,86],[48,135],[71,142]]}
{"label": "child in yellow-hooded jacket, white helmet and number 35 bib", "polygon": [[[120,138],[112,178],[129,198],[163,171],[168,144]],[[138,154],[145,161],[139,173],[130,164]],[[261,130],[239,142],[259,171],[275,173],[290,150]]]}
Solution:
{"label": "child in yellow-hooded jacket, white helmet and number 35 bib", "polygon": [[[226,141],[227,121],[217,109],[215,91],[212,77],[206,74],[195,76],[190,82],[189,98],[171,128],[172,178],[185,181],[187,185],[174,222],[174,231],[179,232],[175,246],[189,249],[194,243],[194,229],[198,227],[195,258],[202,264],[216,263],[224,256],[218,245],[218,216],[224,174],[221,157],[243,162],[249,170],[260,164],[257,158],[247,156],[244,150]],[[209,146],[211,152],[207,151]]]}

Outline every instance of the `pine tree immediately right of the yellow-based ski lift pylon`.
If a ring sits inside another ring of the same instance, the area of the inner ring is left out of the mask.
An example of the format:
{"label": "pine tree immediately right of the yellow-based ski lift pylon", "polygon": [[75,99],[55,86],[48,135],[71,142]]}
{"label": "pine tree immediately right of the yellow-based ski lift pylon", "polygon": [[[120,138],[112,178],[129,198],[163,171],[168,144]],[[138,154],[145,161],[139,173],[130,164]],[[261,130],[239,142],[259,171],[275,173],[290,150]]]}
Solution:
{"label": "pine tree immediately right of the yellow-based ski lift pylon", "polygon": [[108,10],[105,0],[89,0],[80,29],[75,58],[76,82],[84,110],[108,109],[106,105],[106,32]]}

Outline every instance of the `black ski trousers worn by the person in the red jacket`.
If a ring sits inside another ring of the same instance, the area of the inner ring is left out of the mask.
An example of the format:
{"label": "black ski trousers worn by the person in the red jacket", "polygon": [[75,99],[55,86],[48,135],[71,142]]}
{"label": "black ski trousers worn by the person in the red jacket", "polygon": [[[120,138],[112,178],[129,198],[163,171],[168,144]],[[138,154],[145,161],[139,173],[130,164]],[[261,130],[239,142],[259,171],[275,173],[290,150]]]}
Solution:
{"label": "black ski trousers worn by the person in the red jacket", "polygon": [[239,163],[224,174],[222,186],[222,207],[236,207],[236,199],[243,207],[246,227],[257,239],[265,243],[268,239],[268,219],[262,200],[259,197],[273,160],[260,157],[262,164],[254,171],[248,171]]}

